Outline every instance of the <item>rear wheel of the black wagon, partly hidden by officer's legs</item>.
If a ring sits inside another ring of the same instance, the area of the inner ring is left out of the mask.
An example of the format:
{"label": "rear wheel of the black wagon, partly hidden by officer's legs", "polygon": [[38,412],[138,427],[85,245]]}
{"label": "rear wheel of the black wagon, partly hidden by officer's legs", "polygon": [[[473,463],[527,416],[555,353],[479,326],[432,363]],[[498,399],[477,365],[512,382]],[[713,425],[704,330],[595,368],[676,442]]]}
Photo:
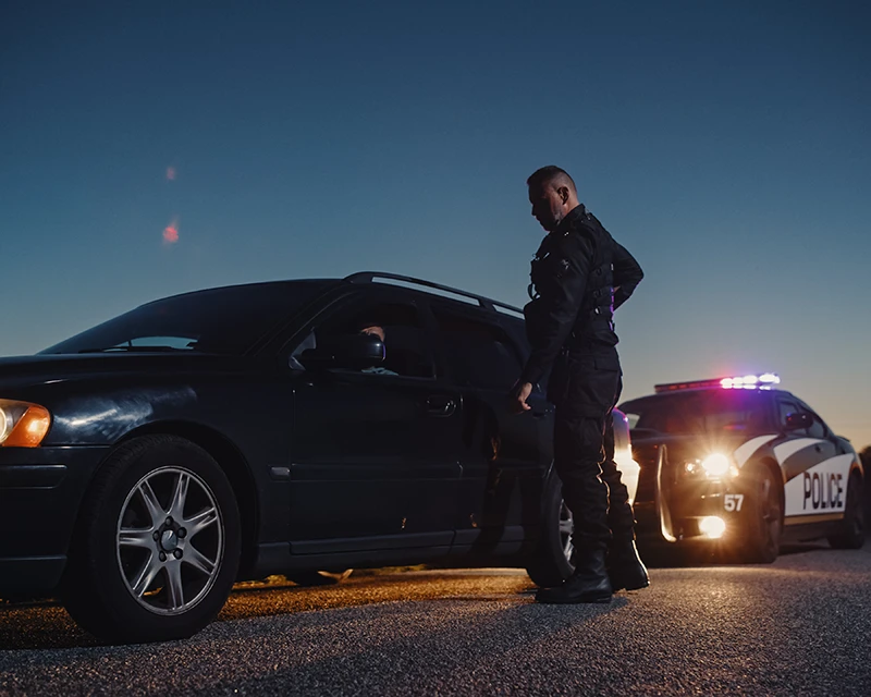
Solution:
{"label": "rear wheel of the black wagon, partly hidden by officer's legs", "polygon": [[539,539],[526,567],[533,584],[552,588],[575,571],[572,563],[574,528],[572,512],[563,501],[563,484],[552,473],[544,488]]}

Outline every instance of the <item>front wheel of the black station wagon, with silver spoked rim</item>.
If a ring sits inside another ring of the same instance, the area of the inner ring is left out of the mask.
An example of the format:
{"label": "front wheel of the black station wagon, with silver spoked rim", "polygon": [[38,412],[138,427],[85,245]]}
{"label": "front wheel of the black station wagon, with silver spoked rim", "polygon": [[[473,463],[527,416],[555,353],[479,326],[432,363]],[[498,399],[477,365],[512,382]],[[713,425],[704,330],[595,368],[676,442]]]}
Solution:
{"label": "front wheel of the black station wagon, with silver spoked rim", "polygon": [[102,640],[193,636],[226,602],[240,527],[233,489],[205,450],[169,435],[125,442],[83,501],[61,600]]}

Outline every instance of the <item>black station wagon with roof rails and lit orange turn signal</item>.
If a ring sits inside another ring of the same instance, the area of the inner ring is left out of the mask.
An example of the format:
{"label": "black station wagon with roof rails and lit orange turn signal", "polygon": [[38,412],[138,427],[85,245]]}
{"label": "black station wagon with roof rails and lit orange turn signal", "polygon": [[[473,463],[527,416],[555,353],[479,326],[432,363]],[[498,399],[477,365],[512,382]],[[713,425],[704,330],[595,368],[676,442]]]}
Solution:
{"label": "black station wagon with roof rails and lit orange turn signal", "polygon": [[97,636],[152,640],[269,574],[556,583],[552,407],[539,388],[507,412],[527,352],[516,308],[365,272],[176,295],[0,359],[0,597],[57,594]]}

